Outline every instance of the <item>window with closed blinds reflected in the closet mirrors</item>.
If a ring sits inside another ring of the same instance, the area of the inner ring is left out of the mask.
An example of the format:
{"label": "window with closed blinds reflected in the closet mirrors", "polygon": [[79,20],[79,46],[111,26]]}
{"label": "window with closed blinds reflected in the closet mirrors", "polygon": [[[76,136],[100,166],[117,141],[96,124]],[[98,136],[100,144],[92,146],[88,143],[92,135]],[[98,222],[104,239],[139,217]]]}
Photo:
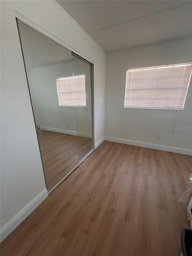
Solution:
{"label": "window with closed blinds reflected in the closet mirrors", "polygon": [[86,107],[85,75],[56,79],[59,106]]}

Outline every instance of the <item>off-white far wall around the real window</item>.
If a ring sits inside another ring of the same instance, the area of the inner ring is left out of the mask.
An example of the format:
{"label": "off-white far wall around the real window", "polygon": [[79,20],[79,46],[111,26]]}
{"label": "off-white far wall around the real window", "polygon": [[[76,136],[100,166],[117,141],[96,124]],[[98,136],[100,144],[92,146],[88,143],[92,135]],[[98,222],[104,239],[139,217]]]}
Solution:
{"label": "off-white far wall around the real window", "polygon": [[[191,40],[184,39],[107,54],[105,136],[192,149],[192,82],[184,110],[124,108],[126,71],[192,62]],[[177,112],[177,116],[176,116]],[[174,125],[174,119],[176,122]],[[174,133],[172,133],[174,125]],[[161,134],[161,140],[157,135]]]}

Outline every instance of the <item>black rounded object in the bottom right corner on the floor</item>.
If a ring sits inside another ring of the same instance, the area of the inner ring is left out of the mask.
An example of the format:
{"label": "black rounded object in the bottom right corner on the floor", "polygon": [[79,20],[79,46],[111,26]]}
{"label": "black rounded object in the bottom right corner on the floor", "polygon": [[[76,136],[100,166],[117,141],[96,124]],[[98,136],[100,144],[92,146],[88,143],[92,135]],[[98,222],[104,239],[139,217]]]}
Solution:
{"label": "black rounded object in the bottom right corner on the floor", "polygon": [[190,228],[182,229],[181,248],[183,256],[192,256],[192,230]]}

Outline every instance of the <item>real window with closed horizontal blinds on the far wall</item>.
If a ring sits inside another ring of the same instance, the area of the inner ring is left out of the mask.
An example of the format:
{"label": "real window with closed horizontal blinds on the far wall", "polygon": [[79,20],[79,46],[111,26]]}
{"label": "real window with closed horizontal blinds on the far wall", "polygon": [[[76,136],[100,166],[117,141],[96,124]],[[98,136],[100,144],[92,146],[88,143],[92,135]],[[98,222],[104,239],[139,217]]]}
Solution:
{"label": "real window with closed horizontal blinds on the far wall", "polygon": [[124,107],[182,110],[191,71],[191,63],[128,69]]}

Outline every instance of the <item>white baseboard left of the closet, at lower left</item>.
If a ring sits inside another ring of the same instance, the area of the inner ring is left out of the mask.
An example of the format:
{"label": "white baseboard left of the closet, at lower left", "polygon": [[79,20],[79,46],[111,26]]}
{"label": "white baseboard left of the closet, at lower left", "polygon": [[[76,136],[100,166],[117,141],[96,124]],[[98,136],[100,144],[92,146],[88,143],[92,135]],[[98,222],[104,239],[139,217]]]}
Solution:
{"label": "white baseboard left of the closet, at lower left", "polygon": [[1,242],[33,211],[35,208],[48,197],[45,188],[30,203],[28,203],[20,212],[18,212],[10,221],[8,221],[0,231]]}

